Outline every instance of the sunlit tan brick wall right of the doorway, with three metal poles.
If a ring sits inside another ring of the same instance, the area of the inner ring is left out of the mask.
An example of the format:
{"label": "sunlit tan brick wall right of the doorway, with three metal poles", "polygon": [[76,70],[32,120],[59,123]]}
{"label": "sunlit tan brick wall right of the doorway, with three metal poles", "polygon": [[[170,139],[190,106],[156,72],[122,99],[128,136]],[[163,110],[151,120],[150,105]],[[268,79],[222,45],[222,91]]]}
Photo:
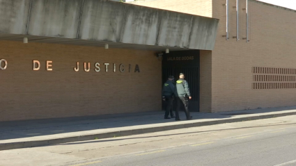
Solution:
{"label": "sunlit tan brick wall right of the doorway, with three metal poles", "polygon": [[293,21],[296,12],[250,0],[250,42],[247,43],[242,40],[246,37],[246,16],[242,10],[245,1],[241,1],[241,40],[237,42],[233,38],[236,35],[236,11],[232,8],[235,1],[230,0],[231,39],[226,41],[222,37],[226,33],[226,6],[222,6],[223,3],[224,0],[213,1],[213,17],[219,18],[220,22],[215,50],[212,51],[212,111],[295,106],[296,89],[252,89],[252,67],[296,68],[296,22]]}

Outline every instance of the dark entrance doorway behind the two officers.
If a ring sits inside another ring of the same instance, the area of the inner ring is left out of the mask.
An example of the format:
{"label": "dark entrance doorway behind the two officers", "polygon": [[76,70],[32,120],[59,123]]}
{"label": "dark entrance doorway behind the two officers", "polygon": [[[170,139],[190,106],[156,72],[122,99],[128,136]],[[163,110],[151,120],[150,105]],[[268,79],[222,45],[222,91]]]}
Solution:
{"label": "dark entrance doorway behind the two officers", "polygon": [[[164,54],[162,61],[162,85],[168,76],[174,76],[178,80],[179,74],[185,74],[185,80],[189,84],[192,99],[189,101],[189,110],[199,111],[199,50],[194,51],[172,51]],[[175,103],[176,104],[176,103]],[[162,104],[165,109],[165,103]]]}

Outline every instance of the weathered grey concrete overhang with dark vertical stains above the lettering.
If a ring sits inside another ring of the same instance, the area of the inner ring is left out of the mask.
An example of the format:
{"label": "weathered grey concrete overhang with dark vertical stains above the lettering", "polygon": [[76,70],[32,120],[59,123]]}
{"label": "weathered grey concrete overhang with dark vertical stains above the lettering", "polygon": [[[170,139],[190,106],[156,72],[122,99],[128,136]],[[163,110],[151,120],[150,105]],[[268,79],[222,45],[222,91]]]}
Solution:
{"label": "weathered grey concrete overhang with dark vertical stains above the lettering", "polygon": [[215,46],[219,19],[108,0],[0,0],[0,40],[164,51]]}

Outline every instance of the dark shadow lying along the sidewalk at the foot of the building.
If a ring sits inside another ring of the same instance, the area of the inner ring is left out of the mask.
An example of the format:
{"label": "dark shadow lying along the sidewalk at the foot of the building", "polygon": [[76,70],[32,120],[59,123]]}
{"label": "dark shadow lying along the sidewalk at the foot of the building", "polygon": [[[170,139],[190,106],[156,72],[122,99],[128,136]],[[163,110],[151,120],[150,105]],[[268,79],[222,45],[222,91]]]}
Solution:
{"label": "dark shadow lying along the sidewalk at the foot of the building", "polygon": [[[192,112],[191,114],[194,119],[215,120],[249,114],[272,113],[279,112],[281,110],[294,109],[296,109],[296,106],[289,108],[285,107],[257,110],[240,110],[224,113]],[[180,118],[185,119],[185,113],[181,112]],[[119,128],[146,124],[164,124],[168,122],[175,122],[175,119],[164,119],[164,111],[0,122],[0,140],[31,138],[41,135],[54,135],[59,133],[91,131],[96,129]]]}

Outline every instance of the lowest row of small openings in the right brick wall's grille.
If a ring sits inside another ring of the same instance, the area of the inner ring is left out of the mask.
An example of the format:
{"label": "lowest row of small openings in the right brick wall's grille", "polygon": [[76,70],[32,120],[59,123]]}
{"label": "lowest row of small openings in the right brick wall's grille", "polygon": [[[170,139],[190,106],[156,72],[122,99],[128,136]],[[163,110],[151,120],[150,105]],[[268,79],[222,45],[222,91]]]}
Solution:
{"label": "lowest row of small openings in the right brick wall's grille", "polygon": [[254,90],[260,89],[295,89],[296,83],[252,83]]}

